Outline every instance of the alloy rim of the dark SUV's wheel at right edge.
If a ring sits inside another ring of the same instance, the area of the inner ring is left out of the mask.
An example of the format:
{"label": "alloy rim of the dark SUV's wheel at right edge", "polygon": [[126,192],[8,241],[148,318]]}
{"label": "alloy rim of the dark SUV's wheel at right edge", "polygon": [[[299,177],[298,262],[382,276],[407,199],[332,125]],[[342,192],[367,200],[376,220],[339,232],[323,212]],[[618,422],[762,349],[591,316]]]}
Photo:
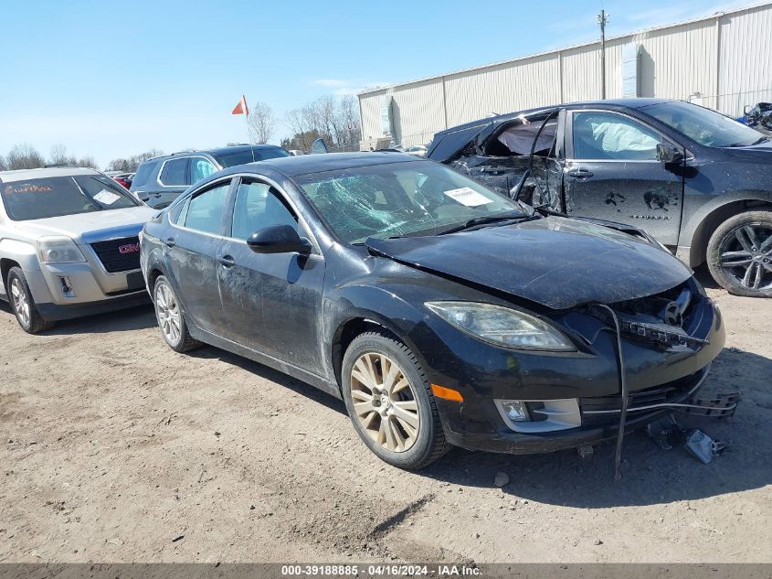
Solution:
{"label": "alloy rim of the dark SUV's wheel at right edge", "polygon": [[737,284],[755,290],[772,288],[772,229],[744,225],[721,243],[721,268]]}

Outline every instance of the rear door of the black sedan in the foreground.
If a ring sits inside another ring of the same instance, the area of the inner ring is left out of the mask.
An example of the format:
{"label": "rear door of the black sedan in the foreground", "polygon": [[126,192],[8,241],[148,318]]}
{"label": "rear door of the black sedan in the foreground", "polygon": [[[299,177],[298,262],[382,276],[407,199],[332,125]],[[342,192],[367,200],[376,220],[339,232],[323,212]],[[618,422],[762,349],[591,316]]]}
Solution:
{"label": "rear door of the black sedan in the foreground", "polygon": [[227,193],[232,179],[217,181],[185,200],[171,223],[166,263],[187,318],[197,327],[222,335],[225,319],[217,285]]}

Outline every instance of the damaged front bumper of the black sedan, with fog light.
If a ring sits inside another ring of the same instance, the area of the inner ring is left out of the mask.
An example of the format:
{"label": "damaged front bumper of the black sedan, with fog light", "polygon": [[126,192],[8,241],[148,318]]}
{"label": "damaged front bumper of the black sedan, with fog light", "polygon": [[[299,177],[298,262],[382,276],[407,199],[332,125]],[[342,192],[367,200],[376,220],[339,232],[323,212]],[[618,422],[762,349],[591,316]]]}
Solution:
{"label": "damaged front bumper of the black sedan, with fog light", "polygon": [[[464,398],[438,400],[449,443],[530,454],[594,445],[618,436],[622,397],[614,356],[616,334],[601,319],[579,312],[564,314],[560,322],[575,329],[587,349],[536,354],[488,347],[471,352],[462,365],[453,364],[472,369],[460,380],[452,381],[445,371],[433,378],[458,389]],[[724,346],[718,309],[701,296],[684,327],[690,339],[664,342],[660,336],[635,335],[635,327],[623,331],[629,383],[626,433],[677,410],[718,416],[734,412],[736,398],[695,399]]]}

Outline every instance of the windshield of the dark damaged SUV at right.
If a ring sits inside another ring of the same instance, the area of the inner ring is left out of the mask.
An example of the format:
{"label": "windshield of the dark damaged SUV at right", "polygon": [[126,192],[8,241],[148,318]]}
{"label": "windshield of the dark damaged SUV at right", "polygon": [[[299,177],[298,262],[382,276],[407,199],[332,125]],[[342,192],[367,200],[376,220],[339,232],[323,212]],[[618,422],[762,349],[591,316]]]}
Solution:
{"label": "windshield of the dark damaged SUV at right", "polygon": [[644,113],[705,146],[749,146],[767,137],[756,130],[689,102],[662,102],[641,107]]}

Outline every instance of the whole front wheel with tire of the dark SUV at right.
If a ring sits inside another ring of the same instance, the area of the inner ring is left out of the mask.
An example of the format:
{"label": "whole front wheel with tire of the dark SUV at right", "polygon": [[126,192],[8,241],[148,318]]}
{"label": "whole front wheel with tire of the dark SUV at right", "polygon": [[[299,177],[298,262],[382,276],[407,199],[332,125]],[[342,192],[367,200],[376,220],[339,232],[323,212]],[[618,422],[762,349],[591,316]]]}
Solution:
{"label": "whole front wheel with tire of the dark SUV at right", "polygon": [[708,269],[734,295],[772,297],[772,211],[746,211],[711,235]]}

